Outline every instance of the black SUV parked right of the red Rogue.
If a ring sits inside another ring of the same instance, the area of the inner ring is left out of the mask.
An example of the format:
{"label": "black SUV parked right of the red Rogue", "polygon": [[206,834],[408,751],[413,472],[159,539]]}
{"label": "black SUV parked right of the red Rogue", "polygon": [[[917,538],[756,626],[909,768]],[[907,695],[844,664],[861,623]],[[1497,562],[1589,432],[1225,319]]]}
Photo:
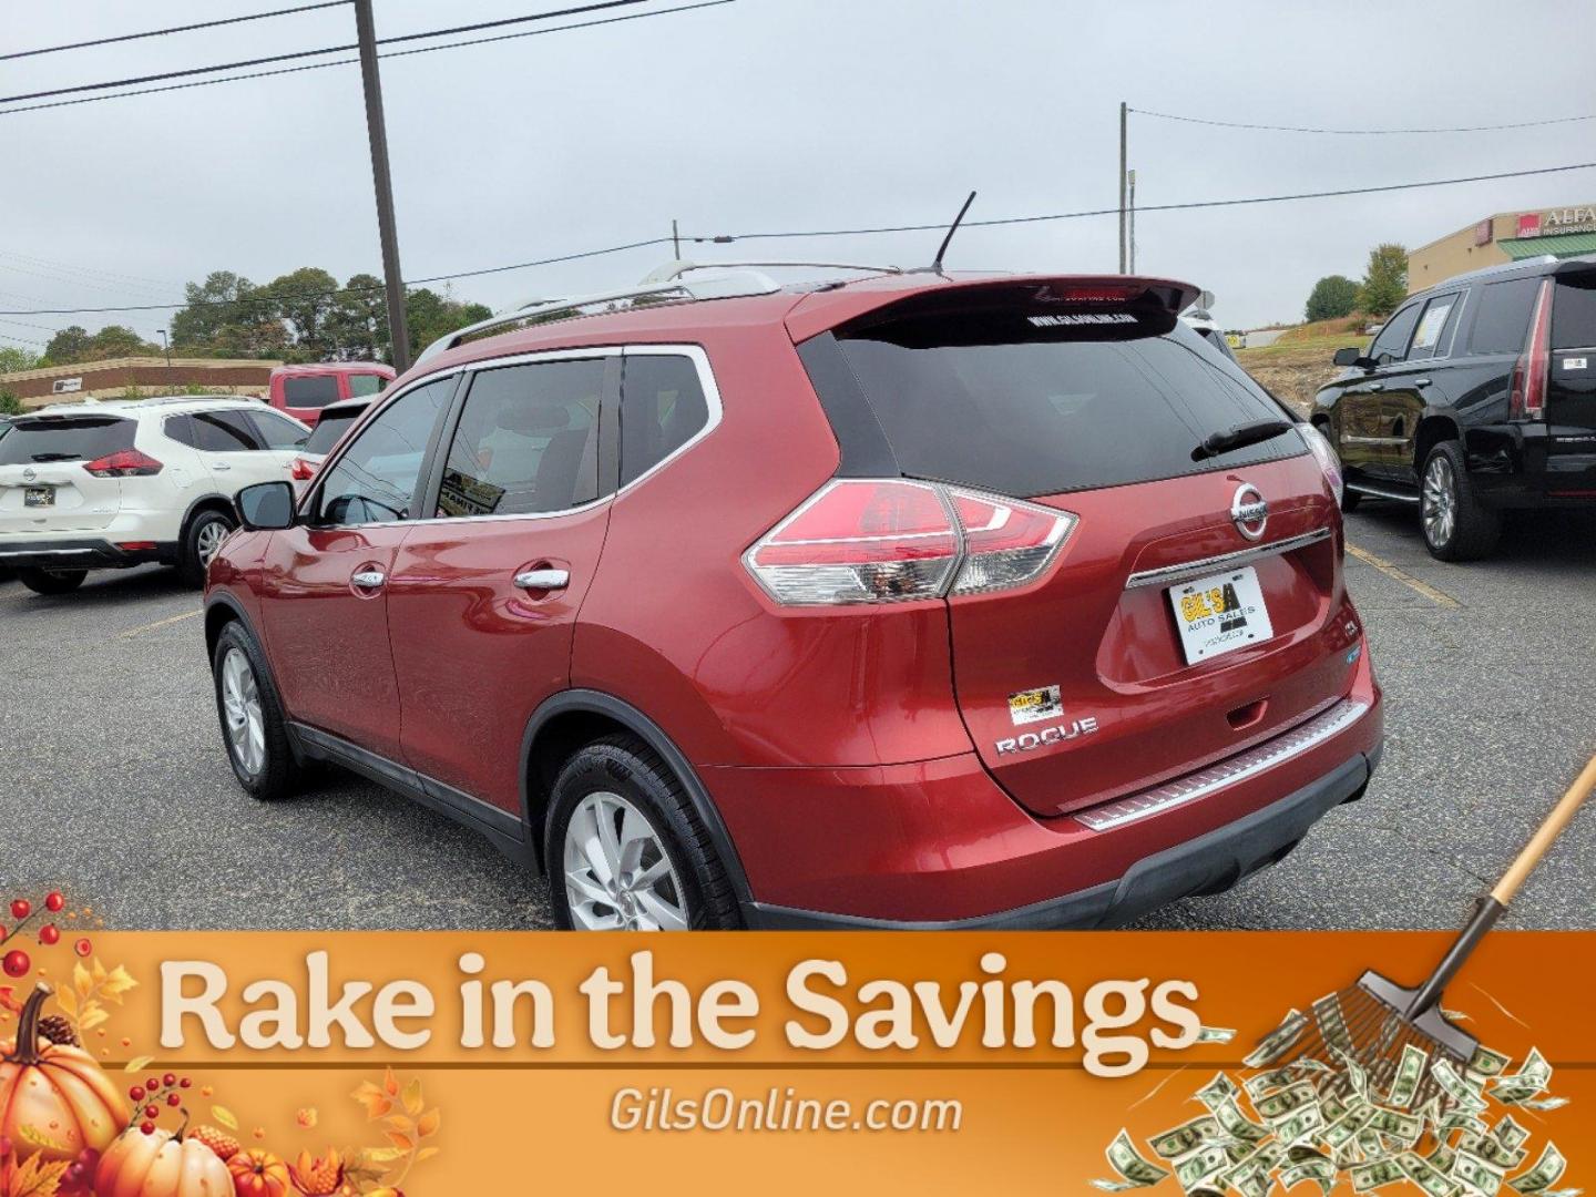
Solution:
{"label": "black SUV parked right of the red Rogue", "polygon": [[1318,391],[1347,508],[1411,503],[1430,552],[1489,555],[1513,508],[1596,508],[1596,255],[1491,267],[1392,313]]}

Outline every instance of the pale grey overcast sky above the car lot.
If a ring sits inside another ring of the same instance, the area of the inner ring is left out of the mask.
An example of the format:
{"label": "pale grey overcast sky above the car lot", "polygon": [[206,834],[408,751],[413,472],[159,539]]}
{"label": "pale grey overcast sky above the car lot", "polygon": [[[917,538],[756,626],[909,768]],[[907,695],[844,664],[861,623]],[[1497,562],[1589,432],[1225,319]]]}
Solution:
{"label": "pale grey overcast sky above the car lot", "polygon": [[[0,53],[290,2],[0,0]],[[380,37],[401,35],[563,6],[377,0],[377,26]],[[353,34],[353,8],[342,6],[0,62],[0,94],[342,45]],[[702,235],[948,220],[970,188],[980,190],[972,219],[1109,207],[1122,99],[1215,120],[1350,128],[1582,115],[1596,112],[1580,49],[1593,35],[1596,6],[1583,0],[736,0],[394,57],[383,64],[383,89],[404,273],[662,236],[672,217]],[[1596,121],[1392,137],[1140,115],[1130,124],[1146,204],[1590,160]],[[185,281],[211,270],[255,282],[306,265],[340,279],[380,273],[353,65],[0,115],[0,163],[5,310],[174,302]],[[1250,327],[1299,319],[1314,281],[1358,278],[1377,241],[1416,247],[1491,212],[1593,201],[1596,171],[1575,171],[1148,212],[1136,265],[1208,287],[1227,327]],[[937,239],[752,241],[688,255],[919,265]],[[669,246],[635,249],[453,289],[504,308],[626,286],[669,257]],[[1109,215],[972,228],[948,262],[1112,271],[1116,257]],[[70,322],[131,324],[153,338],[166,316],[0,316],[0,335],[13,338],[0,343],[45,342]]]}

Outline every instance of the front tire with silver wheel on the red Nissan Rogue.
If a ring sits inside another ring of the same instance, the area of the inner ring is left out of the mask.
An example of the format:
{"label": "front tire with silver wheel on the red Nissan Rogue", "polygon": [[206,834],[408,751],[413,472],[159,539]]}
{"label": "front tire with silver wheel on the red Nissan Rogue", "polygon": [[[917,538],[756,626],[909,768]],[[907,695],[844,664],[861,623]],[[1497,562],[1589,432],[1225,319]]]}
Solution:
{"label": "front tire with silver wheel on the red Nissan Rogue", "polygon": [[222,744],[238,784],[255,798],[287,798],[300,780],[287,718],[260,645],[243,624],[235,621],[222,629],[211,675]]}

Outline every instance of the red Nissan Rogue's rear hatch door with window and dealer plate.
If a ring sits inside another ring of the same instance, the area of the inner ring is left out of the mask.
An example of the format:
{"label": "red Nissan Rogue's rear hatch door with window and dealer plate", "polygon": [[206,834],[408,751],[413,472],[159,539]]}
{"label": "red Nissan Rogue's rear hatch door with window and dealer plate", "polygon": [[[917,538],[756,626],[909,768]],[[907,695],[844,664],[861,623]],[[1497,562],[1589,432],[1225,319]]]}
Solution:
{"label": "red Nissan Rogue's rear hatch door with window and dealer plate", "polygon": [[1037,814],[1312,717],[1345,693],[1355,638],[1329,627],[1339,512],[1290,417],[1167,297],[1077,292],[988,290],[975,310],[953,292],[836,334],[905,474],[1079,517],[1042,579],[950,600],[959,710]]}

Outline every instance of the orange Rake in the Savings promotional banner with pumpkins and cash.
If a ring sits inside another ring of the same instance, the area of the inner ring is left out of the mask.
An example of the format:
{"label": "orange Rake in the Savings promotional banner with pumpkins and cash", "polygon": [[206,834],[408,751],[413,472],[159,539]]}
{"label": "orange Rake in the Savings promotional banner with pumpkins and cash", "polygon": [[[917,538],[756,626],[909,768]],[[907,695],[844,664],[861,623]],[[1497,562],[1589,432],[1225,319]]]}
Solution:
{"label": "orange Rake in the Savings promotional banner with pumpkins and cash", "polygon": [[[0,991],[0,1039],[32,1033],[0,1065],[0,1192],[1588,1187],[1596,935],[1489,937],[1443,1002],[1468,1058],[1360,1026],[1355,993],[1357,1042],[1302,1055],[1337,1036],[1318,999],[1446,945],[99,932]],[[161,1167],[235,1189],[118,1187]]]}

